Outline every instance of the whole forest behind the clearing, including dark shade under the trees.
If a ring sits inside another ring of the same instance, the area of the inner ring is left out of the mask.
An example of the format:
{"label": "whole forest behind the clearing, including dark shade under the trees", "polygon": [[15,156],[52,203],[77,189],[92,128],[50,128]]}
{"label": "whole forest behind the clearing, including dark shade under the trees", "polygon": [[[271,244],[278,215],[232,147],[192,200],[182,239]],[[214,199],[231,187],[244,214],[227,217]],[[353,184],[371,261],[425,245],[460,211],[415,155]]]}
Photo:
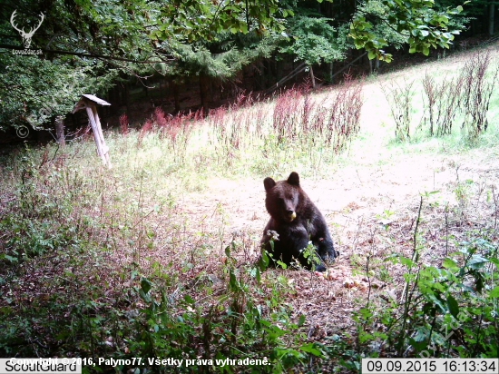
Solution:
{"label": "whole forest behind the clearing, including dark shade under the trees", "polygon": [[[364,74],[367,61],[373,70],[407,52],[467,48],[455,36],[494,34],[495,13],[494,2],[480,0],[6,1],[0,131],[9,131],[5,141],[18,140],[20,126],[51,139],[47,130],[65,121],[74,132],[86,125],[68,115],[81,94],[112,103],[108,125],[124,114],[136,127],[157,106],[207,113],[269,94],[293,74],[289,84],[331,84],[356,59],[346,72]],[[30,48],[40,54],[17,54],[26,48],[13,25],[35,30]]]}

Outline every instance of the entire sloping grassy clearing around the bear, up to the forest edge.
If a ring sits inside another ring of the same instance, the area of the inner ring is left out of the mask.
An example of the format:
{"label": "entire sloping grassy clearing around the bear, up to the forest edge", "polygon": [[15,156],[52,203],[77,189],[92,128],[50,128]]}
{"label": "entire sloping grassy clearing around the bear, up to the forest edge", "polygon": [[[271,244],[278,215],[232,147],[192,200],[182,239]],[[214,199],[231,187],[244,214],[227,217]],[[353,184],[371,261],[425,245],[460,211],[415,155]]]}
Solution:
{"label": "entire sloping grassy clearing around the bear, up to the forest edge", "polygon": [[[194,359],[146,365],[168,373],[496,357],[498,100],[486,131],[411,122],[401,138],[380,84],[347,82],[204,119],[157,110],[140,131],[122,118],[111,171],[84,139],[16,151],[1,163],[0,354]],[[292,170],[342,252],[326,277],[258,261],[261,181]]]}

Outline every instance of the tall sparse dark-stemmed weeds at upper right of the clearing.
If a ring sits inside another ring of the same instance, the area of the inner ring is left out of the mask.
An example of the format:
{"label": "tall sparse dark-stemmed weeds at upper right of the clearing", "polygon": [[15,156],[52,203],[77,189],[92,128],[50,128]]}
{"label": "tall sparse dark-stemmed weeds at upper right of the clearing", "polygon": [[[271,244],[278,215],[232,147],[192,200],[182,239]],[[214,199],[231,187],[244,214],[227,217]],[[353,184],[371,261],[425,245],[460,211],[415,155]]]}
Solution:
{"label": "tall sparse dark-stemmed weeds at upper right of the clearing", "polygon": [[[453,74],[435,77],[426,72],[421,80],[423,114],[421,126],[429,136],[444,136],[458,129],[465,140],[476,140],[489,126],[489,109],[499,74],[499,64],[490,51],[472,54]],[[416,133],[413,98],[415,83],[386,84],[386,95],[396,123],[396,138],[409,140]]]}

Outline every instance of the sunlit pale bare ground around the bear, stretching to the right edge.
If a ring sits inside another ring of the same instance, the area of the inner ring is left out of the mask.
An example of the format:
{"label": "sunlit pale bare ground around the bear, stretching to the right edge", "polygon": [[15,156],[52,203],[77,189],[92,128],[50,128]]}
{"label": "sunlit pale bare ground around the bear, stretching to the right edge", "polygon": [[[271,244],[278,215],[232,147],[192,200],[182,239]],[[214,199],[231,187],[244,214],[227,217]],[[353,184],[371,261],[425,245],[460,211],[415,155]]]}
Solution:
{"label": "sunlit pale bare ground around the bear, stretching to the right edge", "polygon": [[[498,193],[498,153],[499,146],[463,155],[399,155],[392,163],[342,168],[329,180],[303,180],[303,189],[325,215],[341,252],[331,264],[327,280],[308,271],[287,271],[298,292],[289,301],[297,314],[307,316],[310,333],[319,334],[320,338],[353,329],[354,300],[367,300],[368,282],[363,271],[367,255],[378,259],[392,251],[411,255],[421,194],[439,191],[425,199],[423,209],[426,228],[422,226],[422,230],[427,231],[426,250],[431,259],[444,256],[445,203],[455,210],[466,204],[464,222],[459,221],[456,213],[453,215],[451,232],[456,238],[466,229],[492,224],[496,207],[490,196],[487,202],[485,192],[490,195],[494,186]],[[458,183],[465,181],[473,181],[466,198],[469,201],[458,202],[455,190]],[[229,228],[224,235],[226,244],[245,233],[253,241],[256,255],[259,238],[269,219],[264,200],[263,181],[225,180],[213,182],[205,192],[185,196],[179,205],[186,207],[191,219],[212,227],[220,226],[220,215],[215,212],[221,208]],[[440,209],[430,209],[430,202],[439,202]],[[393,270],[392,276],[401,281],[402,274],[397,274],[395,267]],[[402,290],[399,282],[375,283],[379,292],[390,297],[396,297]],[[322,332],[316,331],[318,327]]]}

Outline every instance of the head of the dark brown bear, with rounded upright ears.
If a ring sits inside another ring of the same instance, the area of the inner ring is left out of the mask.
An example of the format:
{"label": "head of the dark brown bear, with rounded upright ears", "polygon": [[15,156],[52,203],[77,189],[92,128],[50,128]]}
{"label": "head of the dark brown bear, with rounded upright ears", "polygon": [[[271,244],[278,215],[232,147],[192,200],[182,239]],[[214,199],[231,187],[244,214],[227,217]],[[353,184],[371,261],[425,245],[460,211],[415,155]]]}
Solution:
{"label": "head of the dark brown bear, with rounded upright ears", "polygon": [[275,182],[272,178],[265,178],[263,185],[267,192],[265,207],[270,216],[276,221],[294,221],[305,197],[299,186],[298,173],[291,172],[287,181]]}

